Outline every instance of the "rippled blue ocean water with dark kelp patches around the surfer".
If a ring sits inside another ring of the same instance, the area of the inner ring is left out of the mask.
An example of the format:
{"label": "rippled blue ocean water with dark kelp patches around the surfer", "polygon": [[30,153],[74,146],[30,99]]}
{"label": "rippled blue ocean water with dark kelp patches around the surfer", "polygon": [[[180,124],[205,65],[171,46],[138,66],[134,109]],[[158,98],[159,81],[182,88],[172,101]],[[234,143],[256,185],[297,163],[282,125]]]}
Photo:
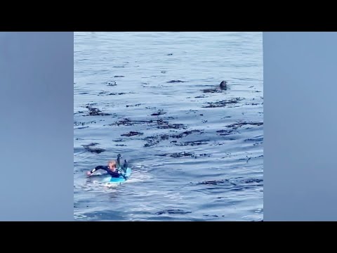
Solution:
{"label": "rippled blue ocean water with dark kelp patches around the surfer", "polygon": [[[262,46],[262,32],[75,32],[74,219],[263,220]],[[126,183],[86,176],[119,153]]]}

